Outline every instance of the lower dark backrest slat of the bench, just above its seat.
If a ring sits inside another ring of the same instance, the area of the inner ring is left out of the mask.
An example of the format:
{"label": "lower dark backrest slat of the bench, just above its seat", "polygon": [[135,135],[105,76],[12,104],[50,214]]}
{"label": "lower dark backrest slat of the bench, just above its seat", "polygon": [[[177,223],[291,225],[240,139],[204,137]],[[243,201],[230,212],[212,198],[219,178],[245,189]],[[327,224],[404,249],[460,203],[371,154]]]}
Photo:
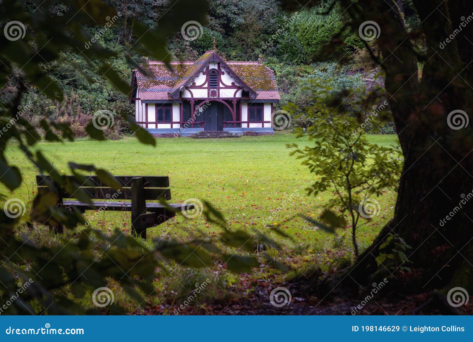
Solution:
{"label": "lower dark backrest slat of the bench, just above its seat", "polygon": [[[131,188],[123,188],[115,190],[112,188],[86,188],[81,187],[83,191],[88,193],[89,197],[98,200],[131,200]],[[38,186],[39,191],[48,191],[49,186]],[[61,187],[62,198],[76,198],[73,193],[68,193]],[[164,197],[166,201],[171,199],[170,189],[145,188],[144,195],[146,200],[158,200],[159,197]]]}

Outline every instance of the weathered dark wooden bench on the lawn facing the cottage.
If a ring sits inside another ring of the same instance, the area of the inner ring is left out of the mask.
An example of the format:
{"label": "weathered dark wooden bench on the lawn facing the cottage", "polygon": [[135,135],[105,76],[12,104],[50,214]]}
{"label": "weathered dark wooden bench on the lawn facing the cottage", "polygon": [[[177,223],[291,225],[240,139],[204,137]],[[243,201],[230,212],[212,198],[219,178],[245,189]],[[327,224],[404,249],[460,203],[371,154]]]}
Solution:
{"label": "weathered dark wooden bench on the lawn facing the cottage", "polygon": [[[92,201],[92,204],[70,200],[77,198],[74,193],[67,191],[60,185],[53,182],[50,176],[37,175],[36,184],[38,193],[49,191],[58,196],[58,206],[65,209],[76,208],[81,213],[86,210],[117,210],[131,211],[131,233],[133,236],[146,238],[146,229],[156,227],[159,224],[171,219],[177,211],[194,209],[193,204],[167,204],[146,202],[156,201],[160,198],[171,199],[169,178],[167,176],[115,176],[115,180],[121,184],[122,189],[115,190],[102,181],[97,176],[86,176],[86,182],[79,184],[74,176],[66,176],[70,182],[74,182],[78,188],[88,193],[91,199],[105,200]],[[69,199],[69,200],[64,200]],[[125,200],[116,201],[115,200]],[[130,200],[130,201],[126,201]],[[62,233],[62,225],[54,228],[56,233]]]}

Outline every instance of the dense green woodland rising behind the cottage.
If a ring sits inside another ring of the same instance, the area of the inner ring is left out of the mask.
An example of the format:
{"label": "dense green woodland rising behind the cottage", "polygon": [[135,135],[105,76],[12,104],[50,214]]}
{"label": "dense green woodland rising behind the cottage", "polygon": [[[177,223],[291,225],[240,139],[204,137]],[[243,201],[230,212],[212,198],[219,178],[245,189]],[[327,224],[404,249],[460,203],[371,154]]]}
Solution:
{"label": "dense green woodland rising behind the cottage", "polygon": [[[149,27],[159,25],[158,19],[168,10],[166,0],[105,1],[116,9],[114,25],[84,26],[92,36],[98,35],[98,44],[116,53],[112,59],[113,69],[125,80],[131,79],[131,68],[127,61],[141,64],[148,56],[137,54],[133,45],[137,36],[133,23],[137,18]],[[206,22],[201,23],[198,39],[186,40],[180,31],[167,39],[166,59],[194,61],[204,51],[212,48],[215,37],[219,53],[228,60],[257,61],[260,56],[273,69],[280,88],[280,107],[294,102],[300,108],[313,105],[310,80],[321,79],[333,88],[358,89],[359,94],[373,84],[383,84],[376,78],[378,69],[370,61],[367,50],[350,28],[342,31],[343,45],[327,48],[333,36],[343,28],[346,14],[335,6],[329,15],[323,13],[330,1],[298,12],[285,11],[277,0],[221,0],[210,4]],[[410,1],[404,1],[406,22],[410,27],[419,24],[418,16]],[[34,11],[33,4],[25,4]],[[61,3],[53,7],[53,15],[61,16],[67,6]],[[171,9],[172,10],[172,9]],[[104,29],[105,28],[105,29]],[[84,49],[89,45],[85,45]],[[83,50],[82,50],[83,51]],[[76,137],[85,137],[85,126],[92,114],[100,109],[109,109],[116,114],[115,129],[107,130],[109,139],[117,139],[131,131],[121,114],[134,114],[128,97],[119,92],[106,77],[97,75],[89,63],[99,68],[104,61],[89,59],[82,51],[70,49],[61,52],[60,59],[44,63],[64,92],[63,101],[51,101],[40,92],[30,92],[23,103],[34,102],[28,115],[40,128],[44,118],[67,123]],[[21,74],[21,71],[20,71]],[[375,80],[376,78],[376,80]],[[92,84],[91,84],[92,82]],[[18,89],[16,76],[11,75],[6,87],[0,90],[0,99],[8,103]],[[306,127],[310,122],[298,119],[295,126]],[[372,127],[370,127],[372,128]],[[379,130],[378,130],[379,131]],[[394,133],[394,125],[388,124],[381,132]]]}

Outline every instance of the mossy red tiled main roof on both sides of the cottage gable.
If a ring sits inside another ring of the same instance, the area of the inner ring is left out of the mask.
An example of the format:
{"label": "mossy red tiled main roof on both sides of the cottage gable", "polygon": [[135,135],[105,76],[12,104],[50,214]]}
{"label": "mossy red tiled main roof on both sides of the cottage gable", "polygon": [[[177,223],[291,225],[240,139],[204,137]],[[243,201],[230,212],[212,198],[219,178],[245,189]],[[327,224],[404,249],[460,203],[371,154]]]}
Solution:
{"label": "mossy red tiled main roof on both sides of the cottage gable", "polygon": [[[143,75],[140,70],[135,70],[141,100],[172,100],[169,96],[188,79],[190,79],[202,65],[206,64],[213,50],[206,51],[197,61],[172,61],[169,70],[164,62],[149,61],[143,66],[148,75]],[[274,72],[268,67],[255,61],[227,61],[235,74],[247,86],[257,93],[257,100],[280,99]]]}

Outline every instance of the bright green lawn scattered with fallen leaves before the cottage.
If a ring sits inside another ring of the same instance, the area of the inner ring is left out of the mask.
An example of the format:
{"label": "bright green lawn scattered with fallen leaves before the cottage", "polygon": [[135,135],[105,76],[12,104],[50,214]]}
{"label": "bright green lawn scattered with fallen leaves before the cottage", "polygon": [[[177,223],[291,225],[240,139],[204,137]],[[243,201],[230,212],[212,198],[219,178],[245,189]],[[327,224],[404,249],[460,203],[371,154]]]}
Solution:
{"label": "bright green lawn scattered with fallen leaves before the cottage", "polygon": [[[395,135],[370,135],[368,140],[380,146],[398,144]],[[251,232],[260,229],[264,232],[269,228],[263,222],[278,224],[290,237],[282,241],[284,249],[279,258],[297,272],[304,272],[316,260],[317,263],[331,263],[332,252],[341,251],[351,258],[352,246],[348,234],[334,245],[333,236],[310,226],[298,216],[302,213],[316,217],[333,195],[327,192],[316,197],[306,196],[305,188],[312,183],[314,175],[310,175],[307,167],[301,166],[295,157],[289,157],[290,150],[286,144],[292,142],[305,143],[291,134],[276,134],[217,140],[158,139],[156,148],[127,138],[40,143],[34,149],[41,149],[64,174],[70,174],[67,162],[75,161],[93,163],[115,175],[168,175],[172,195],[170,202],[205,199],[225,215],[231,228]],[[0,192],[8,198],[22,199],[30,207],[36,192],[37,170],[17,145],[9,144],[6,153],[9,161],[20,168],[24,182],[13,193],[4,187],[0,187]],[[395,199],[393,189],[386,189],[384,196],[378,198],[381,214],[358,231],[361,250],[371,243],[380,228],[393,216]],[[129,213],[93,215],[87,211],[86,218],[94,223],[94,228],[104,232],[120,229],[125,234],[130,233]],[[45,227],[39,227],[39,230],[42,236],[32,237],[38,243],[45,243],[44,236],[52,240],[56,238],[49,235]],[[150,243],[151,238],[156,237],[181,240],[190,235],[218,237],[220,231],[219,227],[208,224],[202,216],[190,220],[177,216],[156,228],[149,228],[149,239],[143,243]],[[66,237],[73,237],[73,233],[66,233]],[[264,278],[268,272],[271,271],[266,268],[264,272],[255,272],[254,275]],[[235,281],[229,282],[232,284]]]}

